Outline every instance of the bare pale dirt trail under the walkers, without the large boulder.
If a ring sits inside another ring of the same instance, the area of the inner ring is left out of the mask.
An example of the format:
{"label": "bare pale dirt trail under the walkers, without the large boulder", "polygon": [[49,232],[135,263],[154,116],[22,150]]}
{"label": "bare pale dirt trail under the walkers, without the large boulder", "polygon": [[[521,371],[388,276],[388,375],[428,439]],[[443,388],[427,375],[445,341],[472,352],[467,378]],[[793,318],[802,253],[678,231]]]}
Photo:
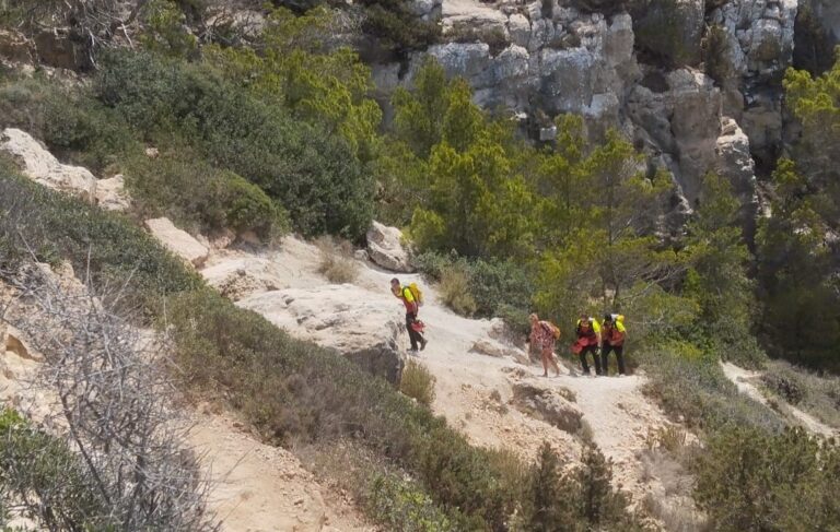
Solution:
{"label": "bare pale dirt trail under the walkers, without the large boulder", "polygon": [[[278,288],[317,291],[329,284],[316,273],[317,249],[294,238],[287,238],[279,251],[270,253],[252,256],[242,251],[222,251],[210,258],[202,273],[218,280],[223,276],[221,272],[229,274],[233,265],[241,267],[248,262],[267,268],[271,277],[269,284]],[[347,286],[348,294],[357,298],[358,287],[362,287],[370,294],[370,299],[382,298],[383,305],[393,305],[393,319],[401,320],[402,306],[388,294],[388,283],[395,274],[370,263],[360,262],[359,265],[359,277],[353,282],[355,286],[342,285]],[[417,281],[425,294],[427,303],[420,310],[420,318],[428,326],[429,345],[418,359],[436,378],[435,413],[444,415],[452,426],[460,429],[476,445],[508,448],[532,460],[542,441],[547,440],[561,454],[574,460],[580,457],[580,438],[510,404],[515,383],[569,389],[576,394],[576,405],[592,429],[594,441],[614,460],[616,484],[631,490],[634,497],[645,493],[635,457],[645,448],[649,430],[668,422],[642,394],[644,377],[561,375],[544,379],[539,376],[541,367],[521,365],[510,357],[497,358],[471,352],[476,341],[489,338],[491,322],[455,315],[438,302],[434,287],[419,275],[396,276],[404,284]],[[252,284],[259,286],[265,283]],[[335,285],[332,289],[336,289]],[[277,316],[273,319],[282,321]],[[291,330],[294,332],[294,327]],[[563,342],[558,348],[564,346]]]}

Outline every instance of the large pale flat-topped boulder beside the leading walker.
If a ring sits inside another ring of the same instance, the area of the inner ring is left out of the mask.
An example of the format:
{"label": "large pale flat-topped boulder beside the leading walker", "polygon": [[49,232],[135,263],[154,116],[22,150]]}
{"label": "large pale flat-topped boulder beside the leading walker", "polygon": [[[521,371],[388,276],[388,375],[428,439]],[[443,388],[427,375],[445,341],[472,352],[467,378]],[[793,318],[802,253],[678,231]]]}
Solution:
{"label": "large pale flat-topped boulder beside the leading walker", "polygon": [[236,305],[396,383],[402,374],[402,346],[408,344],[398,303],[389,294],[341,284],[253,294]]}

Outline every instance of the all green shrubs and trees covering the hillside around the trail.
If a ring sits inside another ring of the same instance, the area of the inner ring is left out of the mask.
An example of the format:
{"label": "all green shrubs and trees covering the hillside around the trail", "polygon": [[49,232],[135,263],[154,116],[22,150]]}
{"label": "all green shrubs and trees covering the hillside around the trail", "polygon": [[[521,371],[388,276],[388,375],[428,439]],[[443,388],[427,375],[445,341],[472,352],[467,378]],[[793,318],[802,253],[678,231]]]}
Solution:
{"label": "all green shrubs and trees covering the hillside around the trail", "polygon": [[[46,16],[10,4],[2,23]],[[399,56],[436,38],[430,26],[405,32],[401,3],[360,5],[365,31],[383,37],[370,54]],[[525,464],[470,446],[423,405],[433,390],[420,390],[418,404],[237,308],[138,225],[165,215],[196,233],[253,233],[267,245],[290,230],[360,243],[376,217],[406,228],[417,265],[446,286],[456,311],[504,317],[518,336],[533,310],[564,333],[580,312],[630,317],[631,366],[703,441],[672,458],[695,474],[695,499],[714,530],[837,525],[836,444],[785,428],[739,395],[719,363],[760,368],[769,354],[840,370],[830,243],[840,230],[840,63],[817,79],[785,78],[803,133],[773,173],[772,215],[759,221],[755,243],[745,240],[728,181],[713,174],[685,234],[670,235],[651,205],[669,201],[673,184],[649,172],[620,132],[594,142],[584,119],[567,115],[556,118],[556,142],[535,145],[433,61],[395,92],[385,125],[370,69],[337,37],[342,12],[308,7],[268,9],[258,36],[197,37],[187,29],[201,21],[200,2],[154,0],[137,13],[136,46],[93,46],[95,68],[78,79],[2,70],[0,126],[98,175],[124,174],[135,201],[126,214],[104,213],[0,159],[0,271],[69,260],[95,285],[125,284],[122,305],[141,310],[138,324],[172,340],[184,390],[224,398],[266,441],[325,453],[347,446],[362,472],[357,495],[386,528],[643,528],[597,449],[563,468],[548,447]],[[840,407],[833,388],[814,397]],[[14,444],[0,456],[3,497],[33,488],[10,488],[2,469],[31,446],[55,457],[48,478],[75,468],[68,449],[14,413],[0,417],[0,430]],[[79,489],[81,498],[56,504],[69,511],[89,500]]]}

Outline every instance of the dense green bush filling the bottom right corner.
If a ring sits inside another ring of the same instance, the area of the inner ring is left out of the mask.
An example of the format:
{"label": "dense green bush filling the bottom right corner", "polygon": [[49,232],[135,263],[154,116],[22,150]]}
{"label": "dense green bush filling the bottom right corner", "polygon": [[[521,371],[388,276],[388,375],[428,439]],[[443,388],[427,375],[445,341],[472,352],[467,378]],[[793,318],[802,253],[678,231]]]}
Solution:
{"label": "dense green bush filling the bottom right corner", "polygon": [[696,474],[695,500],[714,530],[838,530],[840,449],[804,429],[723,430]]}

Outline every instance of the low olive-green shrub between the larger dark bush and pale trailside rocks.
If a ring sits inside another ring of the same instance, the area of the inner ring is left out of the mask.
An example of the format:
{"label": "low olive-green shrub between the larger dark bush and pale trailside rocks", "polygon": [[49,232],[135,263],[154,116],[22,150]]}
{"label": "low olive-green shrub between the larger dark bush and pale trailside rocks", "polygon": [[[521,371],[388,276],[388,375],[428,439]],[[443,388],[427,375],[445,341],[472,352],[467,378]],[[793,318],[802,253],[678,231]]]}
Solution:
{"label": "low olive-green shrub between the larger dark bush and pale trailside rocks", "polygon": [[144,217],[167,216],[198,232],[253,230],[262,238],[288,230],[288,214],[256,185],[219,170],[188,149],[127,164],[127,187]]}

